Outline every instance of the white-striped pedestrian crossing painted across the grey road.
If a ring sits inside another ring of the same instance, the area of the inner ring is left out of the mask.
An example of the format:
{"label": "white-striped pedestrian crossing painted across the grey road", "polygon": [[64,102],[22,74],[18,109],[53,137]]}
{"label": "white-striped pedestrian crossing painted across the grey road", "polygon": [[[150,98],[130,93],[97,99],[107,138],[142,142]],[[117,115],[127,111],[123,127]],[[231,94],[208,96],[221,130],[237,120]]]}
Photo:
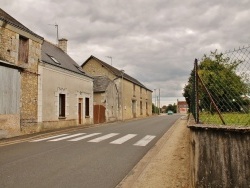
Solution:
{"label": "white-striped pedestrian crossing painted across the grey road", "polygon": [[[131,139],[134,140],[133,146],[146,146],[148,145],[156,136],[146,135],[141,137],[138,134],[126,134],[121,135],[120,133],[76,133],[76,134],[59,134],[55,136],[39,138],[31,140],[30,142],[58,142],[58,141],[67,141],[67,142],[77,142],[81,140],[86,140],[89,143],[99,143],[105,140],[109,140],[109,144],[123,144]],[[135,139],[137,140],[135,141]]]}

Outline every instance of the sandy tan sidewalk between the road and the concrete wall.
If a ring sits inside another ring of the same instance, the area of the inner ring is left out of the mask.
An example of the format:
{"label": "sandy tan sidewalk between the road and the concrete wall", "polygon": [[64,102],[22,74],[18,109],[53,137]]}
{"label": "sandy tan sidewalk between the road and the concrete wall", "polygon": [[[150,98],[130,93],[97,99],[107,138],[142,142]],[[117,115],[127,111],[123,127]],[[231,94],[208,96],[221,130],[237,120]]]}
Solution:
{"label": "sandy tan sidewalk between the road and the concrete wall", "polygon": [[189,187],[189,129],[179,119],[116,188]]}

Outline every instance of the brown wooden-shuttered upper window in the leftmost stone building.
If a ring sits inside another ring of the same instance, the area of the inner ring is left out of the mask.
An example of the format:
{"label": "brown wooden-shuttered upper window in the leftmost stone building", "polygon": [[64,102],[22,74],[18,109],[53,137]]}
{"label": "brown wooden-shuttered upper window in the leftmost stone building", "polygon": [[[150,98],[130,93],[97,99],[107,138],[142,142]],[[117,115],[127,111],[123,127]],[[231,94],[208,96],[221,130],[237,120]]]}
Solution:
{"label": "brown wooden-shuttered upper window in the leftmost stone building", "polygon": [[28,63],[29,39],[19,36],[18,62]]}

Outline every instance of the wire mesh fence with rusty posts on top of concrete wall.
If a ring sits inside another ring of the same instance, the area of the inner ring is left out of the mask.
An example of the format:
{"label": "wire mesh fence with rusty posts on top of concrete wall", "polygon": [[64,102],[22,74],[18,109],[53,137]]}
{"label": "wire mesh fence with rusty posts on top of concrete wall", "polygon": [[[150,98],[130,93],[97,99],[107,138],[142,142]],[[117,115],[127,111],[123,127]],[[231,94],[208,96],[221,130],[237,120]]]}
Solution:
{"label": "wire mesh fence with rusty posts on top of concrete wall", "polygon": [[184,97],[196,123],[250,126],[250,46],[195,60]]}

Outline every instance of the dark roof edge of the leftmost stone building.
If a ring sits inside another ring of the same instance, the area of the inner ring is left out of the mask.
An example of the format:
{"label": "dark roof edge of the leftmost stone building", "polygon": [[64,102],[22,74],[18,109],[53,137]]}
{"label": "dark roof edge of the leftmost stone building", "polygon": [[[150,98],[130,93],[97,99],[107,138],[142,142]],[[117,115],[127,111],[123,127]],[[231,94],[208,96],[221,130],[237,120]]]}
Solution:
{"label": "dark roof edge of the leftmost stone building", "polygon": [[40,38],[43,40],[43,37],[37,35],[36,33],[34,33],[33,31],[31,31],[30,29],[28,29],[27,27],[25,27],[23,24],[21,24],[20,22],[18,22],[15,18],[13,18],[12,16],[10,16],[8,13],[6,13],[3,9],[0,8],[0,20],[2,20],[3,22],[8,23],[9,25],[12,25],[16,28],[19,28],[23,31],[26,31],[27,33],[30,33],[31,35]]}

